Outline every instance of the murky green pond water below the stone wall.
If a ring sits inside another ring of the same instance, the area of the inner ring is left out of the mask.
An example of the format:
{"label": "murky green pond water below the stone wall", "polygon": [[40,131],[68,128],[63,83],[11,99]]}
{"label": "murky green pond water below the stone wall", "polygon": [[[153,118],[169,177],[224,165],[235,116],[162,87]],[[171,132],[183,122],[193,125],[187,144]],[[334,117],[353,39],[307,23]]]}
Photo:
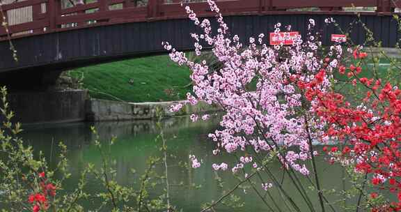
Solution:
{"label": "murky green pond water below the stone wall", "polygon": [[[217,200],[223,194],[223,190],[230,190],[238,183],[230,173],[219,172],[220,176],[227,179],[223,189],[217,186],[215,180],[216,174],[212,170],[214,162],[235,161],[233,156],[222,156],[217,158],[212,156],[213,145],[207,134],[217,128],[219,119],[214,117],[207,122],[192,123],[187,117],[167,119],[162,122],[164,133],[166,135],[168,146],[168,180],[171,184],[170,196],[171,204],[182,211],[201,211],[201,206],[206,202]],[[88,162],[100,167],[102,157],[94,145],[95,136],[91,132],[91,126],[95,126],[100,135],[100,141],[106,144],[111,137],[116,136],[116,144],[111,146],[111,157],[116,160],[116,180],[122,185],[130,185],[138,188],[139,175],[143,174],[148,168],[146,160],[149,156],[162,157],[163,153],[159,151],[159,143],[155,138],[159,134],[154,121],[134,121],[134,122],[104,122],[104,123],[65,123],[51,126],[35,126],[24,128],[21,136],[27,144],[31,144],[36,151],[42,151],[49,161],[49,165],[54,167],[58,162],[57,144],[64,142],[68,146],[68,160],[70,161],[70,172],[72,177],[65,181],[64,188],[72,190],[78,183],[79,174],[84,170]],[[186,169],[180,167],[178,162],[188,162],[189,154],[202,160],[202,165],[198,169]],[[348,185],[343,180],[345,174],[342,169],[336,165],[327,165],[323,158],[318,158],[318,169],[321,174],[321,181],[324,188],[336,188],[341,190]],[[131,174],[130,170],[135,169],[136,174]],[[155,167],[157,172],[162,173],[164,166]],[[272,172],[281,179],[283,169],[278,164],[273,164]],[[138,175],[139,174],[139,175]],[[299,193],[294,190],[288,177],[284,178],[283,186],[285,190],[298,202],[303,208],[302,211],[308,211]],[[309,185],[306,178],[301,178],[302,183]],[[181,184],[182,185],[179,185]],[[201,185],[200,188],[194,188],[190,185]],[[255,185],[262,194],[260,184]],[[88,179],[86,190],[90,193],[96,193],[102,190],[99,181],[94,177]],[[164,188],[152,190],[151,195],[160,195]],[[280,200],[278,190],[271,188],[274,198]],[[308,191],[312,193],[311,191]],[[252,188],[239,189],[235,195],[242,197],[241,202],[245,202],[244,207],[230,209],[227,206],[217,207],[217,211],[269,211],[265,204],[258,199],[258,196]],[[318,207],[317,197],[311,194],[313,204]],[[332,197],[329,197],[332,199]],[[81,202],[88,208],[98,204],[98,200],[87,200]],[[273,205],[271,199],[267,202]],[[276,206],[285,208],[283,201],[274,202]],[[352,202],[343,202],[342,204],[352,204]],[[1,209],[1,206],[0,206]],[[87,211],[88,209],[86,209]],[[109,209],[102,209],[109,211]]]}

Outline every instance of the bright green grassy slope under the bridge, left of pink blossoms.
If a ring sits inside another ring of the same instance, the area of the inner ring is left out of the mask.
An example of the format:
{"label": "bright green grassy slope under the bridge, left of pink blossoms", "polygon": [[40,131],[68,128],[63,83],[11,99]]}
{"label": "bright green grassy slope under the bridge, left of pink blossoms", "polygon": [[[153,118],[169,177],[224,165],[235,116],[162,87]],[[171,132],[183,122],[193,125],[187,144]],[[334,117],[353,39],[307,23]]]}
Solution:
{"label": "bright green grassy slope under the bridge, left of pink blossoms", "polygon": [[[191,90],[191,86],[187,86],[191,82],[189,69],[177,66],[166,55],[77,68],[68,75],[84,75],[83,86],[91,97],[108,100],[178,100]],[[173,95],[168,95],[166,89],[173,89]]]}

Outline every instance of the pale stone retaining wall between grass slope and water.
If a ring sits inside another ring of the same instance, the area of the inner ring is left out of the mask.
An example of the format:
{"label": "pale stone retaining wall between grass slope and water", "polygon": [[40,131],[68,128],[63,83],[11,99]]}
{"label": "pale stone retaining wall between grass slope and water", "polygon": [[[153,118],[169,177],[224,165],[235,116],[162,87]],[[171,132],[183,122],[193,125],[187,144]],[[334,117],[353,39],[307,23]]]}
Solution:
{"label": "pale stone retaining wall between grass slope and water", "polygon": [[198,105],[185,105],[180,112],[172,113],[169,111],[171,105],[179,103],[163,102],[163,103],[121,103],[109,100],[88,100],[87,120],[88,121],[123,121],[135,119],[156,119],[157,107],[162,109],[163,116],[180,116],[193,113],[213,112],[219,108],[206,103],[198,103]]}

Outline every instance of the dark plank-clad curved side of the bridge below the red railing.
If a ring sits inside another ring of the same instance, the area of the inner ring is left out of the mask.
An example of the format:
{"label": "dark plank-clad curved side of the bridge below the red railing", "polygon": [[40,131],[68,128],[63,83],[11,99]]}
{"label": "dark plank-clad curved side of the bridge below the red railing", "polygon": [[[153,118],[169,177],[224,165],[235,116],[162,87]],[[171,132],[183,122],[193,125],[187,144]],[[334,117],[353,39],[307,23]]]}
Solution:
{"label": "dark plank-clad curved side of the bridge below the red railing", "polygon": [[[230,36],[237,34],[246,45],[250,36],[274,31],[277,22],[283,26],[290,24],[293,31],[306,36],[308,20],[313,18],[317,24],[315,29],[322,35],[322,42],[330,45],[331,34],[341,32],[334,26],[325,26],[327,17],[333,17],[344,31],[349,31],[355,44],[365,42],[365,30],[358,23],[356,15],[244,15],[225,17],[225,21]],[[372,30],[377,40],[382,40],[384,47],[394,47],[400,38],[397,22],[391,16],[361,15],[361,22]],[[214,21],[212,24],[213,29],[217,29]],[[194,32],[200,32],[194,24],[178,19],[115,24],[17,38],[13,44],[18,62],[14,61],[8,42],[0,43],[0,73],[60,71],[123,57],[161,54],[165,52],[162,41],[168,41],[178,50],[191,50],[194,41],[189,33]],[[207,47],[205,43],[201,44]],[[0,83],[2,76],[5,75],[0,74]]]}

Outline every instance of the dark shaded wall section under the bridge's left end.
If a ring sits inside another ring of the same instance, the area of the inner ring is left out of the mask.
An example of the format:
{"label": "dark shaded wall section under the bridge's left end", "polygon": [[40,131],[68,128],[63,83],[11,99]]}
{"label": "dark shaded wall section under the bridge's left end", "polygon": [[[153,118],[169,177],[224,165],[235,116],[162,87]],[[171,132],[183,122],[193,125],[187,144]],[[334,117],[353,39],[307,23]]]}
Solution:
{"label": "dark shaded wall section under the bridge's left end", "polygon": [[87,91],[46,91],[10,93],[8,102],[15,112],[13,121],[58,123],[86,119]]}

